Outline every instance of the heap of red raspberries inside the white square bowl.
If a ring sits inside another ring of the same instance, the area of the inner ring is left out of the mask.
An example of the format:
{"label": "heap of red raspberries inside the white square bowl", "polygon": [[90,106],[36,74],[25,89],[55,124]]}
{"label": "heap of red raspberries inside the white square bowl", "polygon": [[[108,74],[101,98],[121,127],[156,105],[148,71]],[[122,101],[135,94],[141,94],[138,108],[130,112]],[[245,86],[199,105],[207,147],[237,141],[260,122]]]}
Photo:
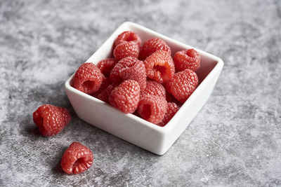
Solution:
{"label": "heap of red raspberries inside the white square bowl", "polygon": [[112,57],[82,64],[72,86],[163,127],[197,88],[200,55],[189,49],[171,57],[171,48],[158,38],[141,43],[138,34],[122,32]]}

